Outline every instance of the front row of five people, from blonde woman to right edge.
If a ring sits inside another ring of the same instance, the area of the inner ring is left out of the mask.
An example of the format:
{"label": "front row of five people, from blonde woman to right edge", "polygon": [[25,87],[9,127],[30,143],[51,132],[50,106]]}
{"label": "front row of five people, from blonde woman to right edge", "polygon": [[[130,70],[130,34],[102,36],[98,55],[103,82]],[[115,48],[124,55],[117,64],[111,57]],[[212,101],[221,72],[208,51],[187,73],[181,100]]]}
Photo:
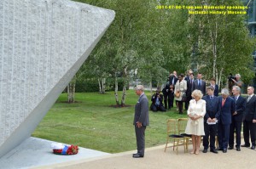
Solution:
{"label": "front row of five people, from blonde woman to right edge", "polygon": [[[193,150],[191,154],[199,154],[201,136],[203,136],[203,153],[208,148],[212,153],[234,149],[236,133],[236,150],[241,147],[255,149],[256,138],[256,97],[254,88],[247,87],[247,98],[241,96],[241,88],[232,87],[232,96],[228,88],[221,90],[221,96],[214,95],[214,88],[207,87],[207,95],[195,90],[189,102],[189,121],[186,133],[191,135]],[[245,144],[241,145],[241,126]],[[218,149],[215,147],[215,137],[218,136]],[[210,144],[209,144],[210,138]],[[250,139],[251,138],[251,144]]]}

